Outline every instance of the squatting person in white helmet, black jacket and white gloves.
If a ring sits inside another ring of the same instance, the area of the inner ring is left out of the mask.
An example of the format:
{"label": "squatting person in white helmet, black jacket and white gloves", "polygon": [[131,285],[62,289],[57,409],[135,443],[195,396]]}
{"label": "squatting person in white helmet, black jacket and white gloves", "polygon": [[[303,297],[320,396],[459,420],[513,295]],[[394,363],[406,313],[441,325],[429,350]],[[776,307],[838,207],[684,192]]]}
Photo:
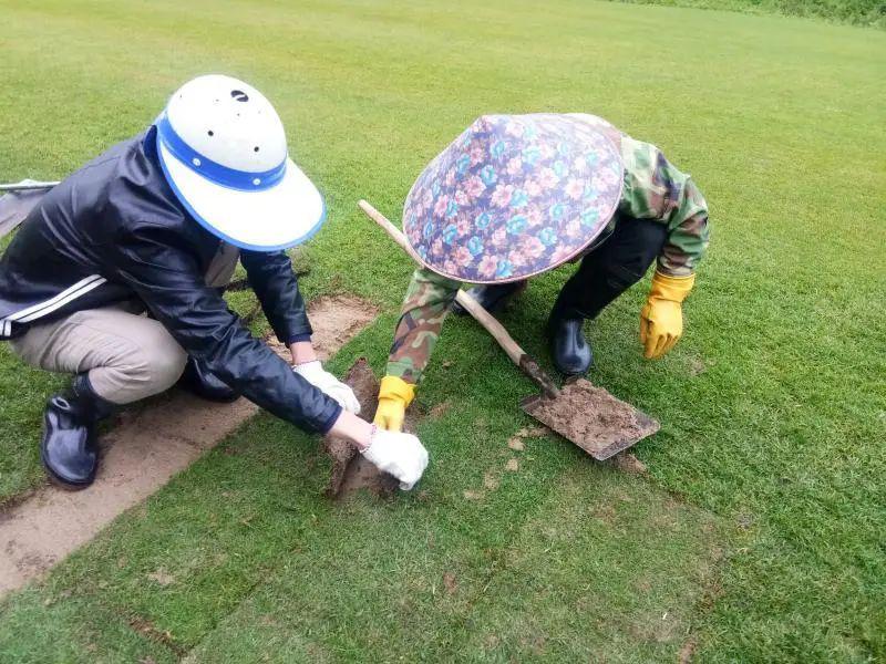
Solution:
{"label": "squatting person in white helmet, black jacket and white gloves", "polygon": [[[274,107],[220,75],[185,84],[147,132],[52,189],[0,259],[0,339],[29,364],[75,375],[47,406],[50,476],[92,484],[96,423],[182,380],[207,398],[244,395],[301,428],[347,437],[412,488],[424,447],[358,417],[353,392],[311,346],[285,249],[324,216]],[[292,366],[228,310],[222,288],[237,260]]]}

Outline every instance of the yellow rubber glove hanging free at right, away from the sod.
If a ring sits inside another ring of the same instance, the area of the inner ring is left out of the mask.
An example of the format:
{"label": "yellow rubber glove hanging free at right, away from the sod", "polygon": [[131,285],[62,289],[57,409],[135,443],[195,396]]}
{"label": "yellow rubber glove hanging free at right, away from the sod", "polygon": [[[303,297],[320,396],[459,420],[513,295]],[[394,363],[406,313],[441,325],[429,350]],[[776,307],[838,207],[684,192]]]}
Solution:
{"label": "yellow rubber glove hanging free at right, away from the sod", "polygon": [[648,360],[658,360],[670,351],[683,334],[683,311],[686,300],[696,276],[668,277],[656,272],[649,298],[640,311],[640,343],[643,344]]}

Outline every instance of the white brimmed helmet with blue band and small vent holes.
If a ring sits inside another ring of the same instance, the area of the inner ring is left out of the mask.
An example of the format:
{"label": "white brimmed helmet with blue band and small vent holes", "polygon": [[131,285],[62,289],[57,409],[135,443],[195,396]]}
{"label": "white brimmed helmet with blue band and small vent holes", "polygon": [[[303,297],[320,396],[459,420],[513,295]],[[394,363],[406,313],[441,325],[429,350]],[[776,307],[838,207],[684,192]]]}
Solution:
{"label": "white brimmed helmet with blue band and small vent holes", "polygon": [[280,117],[251,85],[218,74],[194,79],[173,94],[155,125],[166,180],[216,237],[276,251],[322,225],[322,196],[289,158]]}

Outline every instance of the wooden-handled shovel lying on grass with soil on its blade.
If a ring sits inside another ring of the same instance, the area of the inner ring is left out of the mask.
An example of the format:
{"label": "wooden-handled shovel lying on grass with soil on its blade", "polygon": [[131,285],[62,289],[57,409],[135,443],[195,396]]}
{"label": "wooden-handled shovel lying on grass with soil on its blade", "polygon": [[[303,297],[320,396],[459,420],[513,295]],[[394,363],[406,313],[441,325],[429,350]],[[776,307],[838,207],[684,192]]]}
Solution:
{"label": "wooden-handled shovel lying on grass with soil on its blade", "polygon": [[[359,205],[370,219],[381,226],[421,264],[406,238],[384,215],[365,200],[361,200]],[[606,390],[591,385],[585,378],[570,378],[560,390],[538,362],[474,298],[460,290],[455,299],[542,391],[540,394],[521,402],[523,411],[578,445],[595,459],[608,459],[659,429],[659,423],[646,413],[616,398]]]}

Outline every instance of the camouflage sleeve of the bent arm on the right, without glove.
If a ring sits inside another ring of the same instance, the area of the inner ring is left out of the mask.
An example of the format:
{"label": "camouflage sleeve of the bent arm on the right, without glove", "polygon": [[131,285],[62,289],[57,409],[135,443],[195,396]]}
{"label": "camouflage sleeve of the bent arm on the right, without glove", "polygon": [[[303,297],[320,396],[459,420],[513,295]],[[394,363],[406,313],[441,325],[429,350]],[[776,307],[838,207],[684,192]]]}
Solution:
{"label": "camouflage sleeve of the bent arm on the right, without glove", "polygon": [[708,248],[708,204],[692,178],[668,162],[659,148],[625,137],[625,190],[619,210],[668,226],[658,269],[670,277],[696,271]]}

